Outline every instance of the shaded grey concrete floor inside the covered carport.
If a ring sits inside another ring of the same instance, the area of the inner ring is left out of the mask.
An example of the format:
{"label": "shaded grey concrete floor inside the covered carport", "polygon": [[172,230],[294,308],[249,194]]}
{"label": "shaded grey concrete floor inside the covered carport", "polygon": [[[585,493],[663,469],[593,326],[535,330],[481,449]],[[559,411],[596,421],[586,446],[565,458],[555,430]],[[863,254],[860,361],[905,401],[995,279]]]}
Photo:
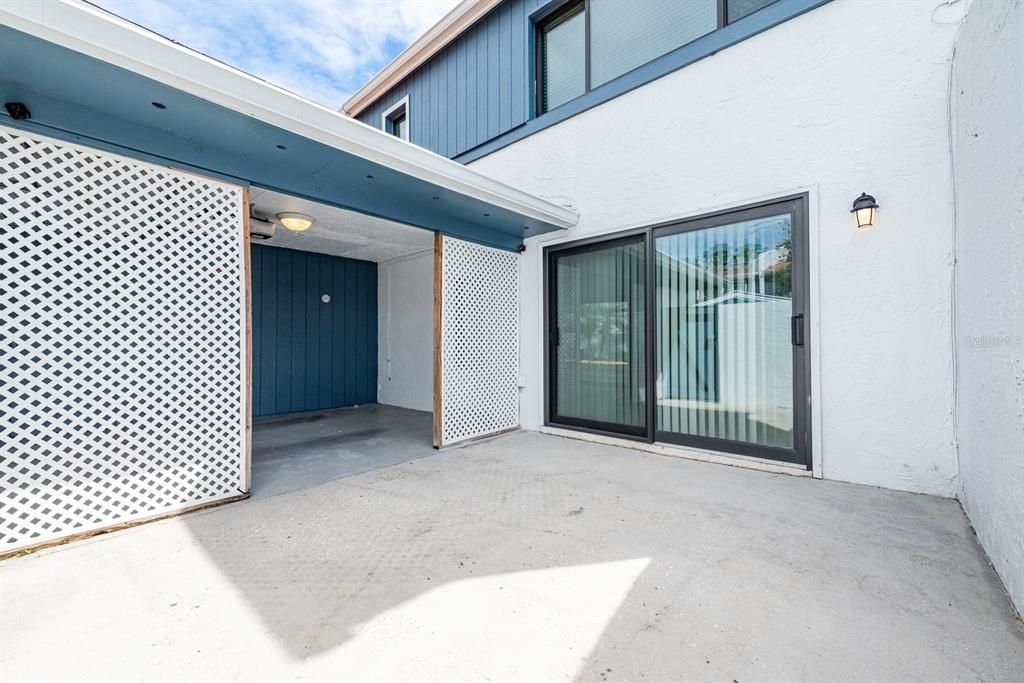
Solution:
{"label": "shaded grey concrete floor inside the covered carport", "polygon": [[259,419],[252,496],[308,488],[434,454],[433,416],[371,403]]}

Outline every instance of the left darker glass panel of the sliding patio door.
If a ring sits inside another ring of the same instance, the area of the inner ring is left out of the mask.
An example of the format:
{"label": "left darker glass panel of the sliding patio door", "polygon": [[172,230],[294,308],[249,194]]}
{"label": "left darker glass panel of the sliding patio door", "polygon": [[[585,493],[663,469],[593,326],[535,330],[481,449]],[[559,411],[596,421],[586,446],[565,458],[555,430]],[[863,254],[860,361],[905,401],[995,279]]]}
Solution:
{"label": "left darker glass panel of the sliding patio door", "polygon": [[645,432],[644,260],[643,241],[555,257],[555,422]]}

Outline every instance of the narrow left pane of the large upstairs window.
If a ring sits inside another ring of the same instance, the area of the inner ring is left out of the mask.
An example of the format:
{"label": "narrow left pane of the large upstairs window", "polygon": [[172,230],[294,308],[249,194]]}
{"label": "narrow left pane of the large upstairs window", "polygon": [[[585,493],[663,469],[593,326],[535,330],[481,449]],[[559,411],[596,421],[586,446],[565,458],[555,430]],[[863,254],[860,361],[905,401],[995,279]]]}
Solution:
{"label": "narrow left pane of the large upstairs window", "polygon": [[580,3],[541,27],[541,111],[587,90],[587,19]]}

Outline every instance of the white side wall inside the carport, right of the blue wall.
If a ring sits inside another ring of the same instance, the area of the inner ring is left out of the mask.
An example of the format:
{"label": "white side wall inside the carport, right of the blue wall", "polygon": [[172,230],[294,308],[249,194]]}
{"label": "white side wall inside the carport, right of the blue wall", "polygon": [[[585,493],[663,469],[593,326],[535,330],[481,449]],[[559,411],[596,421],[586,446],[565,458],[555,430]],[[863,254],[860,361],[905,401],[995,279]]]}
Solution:
{"label": "white side wall inside the carport, right of the blue wall", "polygon": [[377,280],[377,400],[432,411],[433,250],[378,264]]}

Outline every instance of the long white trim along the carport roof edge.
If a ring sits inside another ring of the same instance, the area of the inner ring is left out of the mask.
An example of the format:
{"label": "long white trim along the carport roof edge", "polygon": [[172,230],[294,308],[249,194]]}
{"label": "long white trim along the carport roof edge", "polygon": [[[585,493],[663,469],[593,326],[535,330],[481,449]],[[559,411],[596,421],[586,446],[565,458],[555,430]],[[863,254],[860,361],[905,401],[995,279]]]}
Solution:
{"label": "long white trim along the carport roof edge", "polygon": [[207,101],[561,228],[575,212],[364,125],[77,0],[3,0],[0,24]]}

